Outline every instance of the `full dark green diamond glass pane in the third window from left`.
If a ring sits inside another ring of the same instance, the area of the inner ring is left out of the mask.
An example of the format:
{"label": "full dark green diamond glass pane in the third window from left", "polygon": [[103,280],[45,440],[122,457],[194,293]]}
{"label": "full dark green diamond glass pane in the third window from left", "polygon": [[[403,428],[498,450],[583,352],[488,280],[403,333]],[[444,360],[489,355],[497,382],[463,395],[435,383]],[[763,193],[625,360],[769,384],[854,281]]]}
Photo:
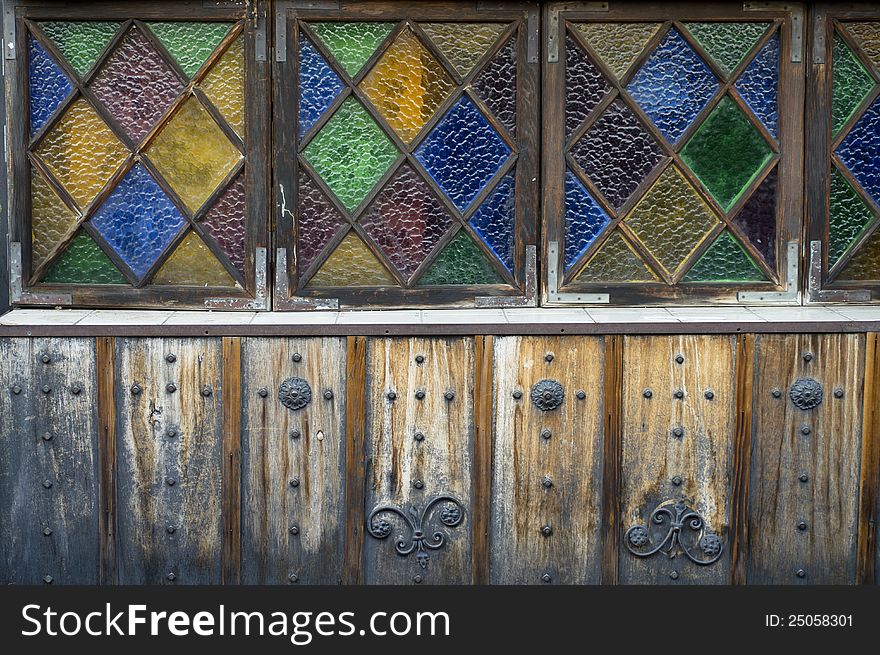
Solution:
{"label": "full dark green diamond glass pane in the third window from left", "polygon": [[684,162],[725,210],[770,160],[770,147],[729,97],[725,97],[681,151]]}

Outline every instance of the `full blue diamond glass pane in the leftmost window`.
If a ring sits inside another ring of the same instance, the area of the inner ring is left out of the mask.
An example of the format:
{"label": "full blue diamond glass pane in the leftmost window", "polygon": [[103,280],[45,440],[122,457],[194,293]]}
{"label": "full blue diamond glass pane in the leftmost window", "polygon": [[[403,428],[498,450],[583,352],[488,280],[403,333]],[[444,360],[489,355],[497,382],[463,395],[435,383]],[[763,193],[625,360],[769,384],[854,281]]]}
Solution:
{"label": "full blue diamond glass pane in the leftmost window", "polygon": [[92,217],[92,225],[139,280],[185,223],[141,164],[132,167]]}

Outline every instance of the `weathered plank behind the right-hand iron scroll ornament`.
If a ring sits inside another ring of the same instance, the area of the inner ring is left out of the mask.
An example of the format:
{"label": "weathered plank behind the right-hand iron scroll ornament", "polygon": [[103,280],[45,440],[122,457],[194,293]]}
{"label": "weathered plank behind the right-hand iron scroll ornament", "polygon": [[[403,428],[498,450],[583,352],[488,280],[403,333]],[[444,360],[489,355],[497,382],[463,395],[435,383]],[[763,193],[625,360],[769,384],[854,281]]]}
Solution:
{"label": "weathered plank behind the right-hand iron scroll ornament", "polygon": [[[624,344],[622,528],[652,526],[659,505],[684,501],[721,538],[721,559],[694,564],[683,553],[641,558],[621,540],[622,584],[725,584],[730,548],[731,450],[734,431],[733,337],[627,337]],[[680,392],[681,397],[678,397]],[[677,429],[680,429],[679,433]],[[681,436],[679,436],[679,434]],[[682,531],[699,558],[700,533]]]}

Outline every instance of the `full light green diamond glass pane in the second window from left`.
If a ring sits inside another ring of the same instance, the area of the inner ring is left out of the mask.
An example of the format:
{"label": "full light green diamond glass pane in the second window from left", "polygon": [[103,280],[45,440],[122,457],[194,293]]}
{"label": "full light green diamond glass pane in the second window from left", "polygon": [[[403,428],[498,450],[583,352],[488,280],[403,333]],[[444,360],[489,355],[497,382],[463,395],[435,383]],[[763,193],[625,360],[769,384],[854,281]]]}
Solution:
{"label": "full light green diamond glass pane in the second window from left", "polygon": [[349,97],[312,139],[304,155],[352,211],[397,159],[397,148],[361,104]]}

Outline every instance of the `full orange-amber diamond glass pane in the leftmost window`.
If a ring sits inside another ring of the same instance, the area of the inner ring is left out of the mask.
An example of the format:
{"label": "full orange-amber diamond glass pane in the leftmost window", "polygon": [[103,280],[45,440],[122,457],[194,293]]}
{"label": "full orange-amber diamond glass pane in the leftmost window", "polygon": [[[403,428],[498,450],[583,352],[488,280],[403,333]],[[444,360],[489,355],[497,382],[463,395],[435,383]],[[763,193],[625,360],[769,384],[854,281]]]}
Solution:
{"label": "full orange-amber diamond glass pane in the leftmost window", "polygon": [[80,207],[101,190],[128,156],[128,150],[82,98],[74,101],[36,154]]}

